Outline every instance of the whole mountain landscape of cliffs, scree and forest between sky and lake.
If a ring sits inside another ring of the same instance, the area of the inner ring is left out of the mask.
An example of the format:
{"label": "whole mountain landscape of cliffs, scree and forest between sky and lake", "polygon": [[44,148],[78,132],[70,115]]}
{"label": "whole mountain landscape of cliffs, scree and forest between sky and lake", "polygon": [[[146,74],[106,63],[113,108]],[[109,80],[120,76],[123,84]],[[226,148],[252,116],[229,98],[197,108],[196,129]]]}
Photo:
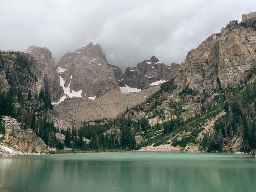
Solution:
{"label": "whole mountain landscape of cliffs, scree and forest between sky and lake", "polygon": [[145,59],[123,74],[99,44],[68,52],[58,64],[47,48],[0,51],[0,156],[119,150],[255,155],[256,12],[212,34],[181,64]]}

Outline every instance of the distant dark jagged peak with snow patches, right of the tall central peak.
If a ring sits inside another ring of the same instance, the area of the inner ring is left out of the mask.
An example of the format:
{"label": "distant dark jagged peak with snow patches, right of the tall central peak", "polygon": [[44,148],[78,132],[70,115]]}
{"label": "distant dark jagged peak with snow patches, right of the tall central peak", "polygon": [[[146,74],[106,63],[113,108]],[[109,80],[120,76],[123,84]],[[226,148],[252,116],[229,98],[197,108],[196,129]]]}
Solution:
{"label": "distant dark jagged peak with snow patches, right of the tall central peak", "polygon": [[128,67],[124,73],[124,84],[137,89],[146,89],[153,82],[171,80],[177,73],[180,65],[172,63],[171,66],[159,62],[152,56],[149,60],[144,60],[137,67]]}

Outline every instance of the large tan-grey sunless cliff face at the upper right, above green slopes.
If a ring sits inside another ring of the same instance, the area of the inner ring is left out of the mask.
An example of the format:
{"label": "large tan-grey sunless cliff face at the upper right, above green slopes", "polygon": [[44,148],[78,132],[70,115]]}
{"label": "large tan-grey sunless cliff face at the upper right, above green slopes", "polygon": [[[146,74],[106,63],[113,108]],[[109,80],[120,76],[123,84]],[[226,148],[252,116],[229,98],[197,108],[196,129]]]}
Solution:
{"label": "large tan-grey sunless cliff face at the upper right, above green slopes", "polygon": [[[243,21],[255,12],[243,15]],[[211,93],[220,87],[237,87],[251,76],[256,66],[256,31],[231,21],[221,33],[212,34],[198,48],[188,52],[175,83],[200,92]]]}

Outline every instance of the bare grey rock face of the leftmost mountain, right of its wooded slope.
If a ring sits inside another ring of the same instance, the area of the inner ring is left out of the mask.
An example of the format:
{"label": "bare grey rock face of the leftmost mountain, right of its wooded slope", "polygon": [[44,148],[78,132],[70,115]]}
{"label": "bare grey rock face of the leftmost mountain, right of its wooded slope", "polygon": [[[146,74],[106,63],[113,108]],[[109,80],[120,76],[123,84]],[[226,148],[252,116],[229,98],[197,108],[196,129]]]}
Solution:
{"label": "bare grey rock face of the leftmost mountain, right of its wooded slope", "polygon": [[63,95],[63,89],[59,84],[59,76],[55,70],[55,61],[52,53],[47,48],[30,46],[24,53],[30,54],[36,61],[34,73],[35,84],[32,88],[36,93],[44,90],[52,101],[59,101]]}

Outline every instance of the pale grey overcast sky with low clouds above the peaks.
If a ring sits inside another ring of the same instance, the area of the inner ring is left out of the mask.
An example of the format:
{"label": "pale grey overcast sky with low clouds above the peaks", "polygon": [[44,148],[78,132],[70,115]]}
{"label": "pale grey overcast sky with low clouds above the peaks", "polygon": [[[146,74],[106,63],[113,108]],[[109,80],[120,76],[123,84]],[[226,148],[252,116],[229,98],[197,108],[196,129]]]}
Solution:
{"label": "pale grey overcast sky with low clouds above the peaks", "polygon": [[0,50],[47,47],[57,64],[93,42],[123,72],[152,55],[180,64],[229,21],[254,11],[255,0],[0,0]]}

